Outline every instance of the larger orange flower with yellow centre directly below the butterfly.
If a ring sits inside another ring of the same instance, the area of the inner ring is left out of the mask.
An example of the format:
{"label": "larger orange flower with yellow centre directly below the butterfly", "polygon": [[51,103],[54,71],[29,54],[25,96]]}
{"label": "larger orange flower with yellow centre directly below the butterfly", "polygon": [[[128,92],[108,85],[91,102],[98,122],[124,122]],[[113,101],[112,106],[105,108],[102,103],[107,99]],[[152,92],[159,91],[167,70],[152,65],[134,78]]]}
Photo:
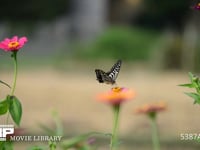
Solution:
{"label": "larger orange flower with yellow centre directly below the butterfly", "polygon": [[97,99],[112,105],[119,105],[124,101],[130,100],[135,96],[135,93],[124,87],[114,87],[110,91],[100,93]]}

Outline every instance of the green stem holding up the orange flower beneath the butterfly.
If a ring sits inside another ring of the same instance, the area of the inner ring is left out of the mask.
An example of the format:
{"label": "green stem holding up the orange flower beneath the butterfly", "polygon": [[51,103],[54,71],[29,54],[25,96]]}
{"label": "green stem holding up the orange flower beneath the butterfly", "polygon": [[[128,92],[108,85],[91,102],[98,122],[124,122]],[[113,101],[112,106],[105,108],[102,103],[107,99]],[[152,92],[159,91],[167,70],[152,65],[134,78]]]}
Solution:
{"label": "green stem holding up the orange flower beneath the butterfly", "polygon": [[114,120],[113,120],[113,129],[112,129],[112,137],[110,142],[110,150],[116,150],[117,149],[117,130],[119,125],[119,112],[120,112],[120,104],[113,106],[114,110]]}

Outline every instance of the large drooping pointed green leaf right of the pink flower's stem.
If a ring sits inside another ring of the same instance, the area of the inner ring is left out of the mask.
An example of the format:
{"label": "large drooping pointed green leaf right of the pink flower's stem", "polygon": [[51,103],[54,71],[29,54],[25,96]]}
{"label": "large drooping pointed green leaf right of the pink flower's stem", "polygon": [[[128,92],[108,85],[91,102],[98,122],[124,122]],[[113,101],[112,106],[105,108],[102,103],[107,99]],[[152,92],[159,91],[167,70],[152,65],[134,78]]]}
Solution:
{"label": "large drooping pointed green leaf right of the pink flower's stem", "polygon": [[21,117],[22,117],[22,105],[17,97],[15,96],[7,96],[10,105],[9,112],[13,119],[13,121],[19,126]]}

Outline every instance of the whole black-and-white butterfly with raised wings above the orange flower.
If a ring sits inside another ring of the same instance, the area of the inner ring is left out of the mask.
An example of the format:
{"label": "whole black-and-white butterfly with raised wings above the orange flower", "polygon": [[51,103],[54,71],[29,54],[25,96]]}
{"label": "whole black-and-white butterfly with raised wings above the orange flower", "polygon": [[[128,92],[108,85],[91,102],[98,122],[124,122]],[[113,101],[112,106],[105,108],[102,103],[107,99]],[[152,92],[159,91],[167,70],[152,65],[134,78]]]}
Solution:
{"label": "whole black-and-white butterfly with raised wings above the orange flower", "polygon": [[101,69],[95,69],[97,80],[99,83],[115,84],[115,80],[119,74],[120,67],[121,60],[118,60],[108,72],[104,72]]}

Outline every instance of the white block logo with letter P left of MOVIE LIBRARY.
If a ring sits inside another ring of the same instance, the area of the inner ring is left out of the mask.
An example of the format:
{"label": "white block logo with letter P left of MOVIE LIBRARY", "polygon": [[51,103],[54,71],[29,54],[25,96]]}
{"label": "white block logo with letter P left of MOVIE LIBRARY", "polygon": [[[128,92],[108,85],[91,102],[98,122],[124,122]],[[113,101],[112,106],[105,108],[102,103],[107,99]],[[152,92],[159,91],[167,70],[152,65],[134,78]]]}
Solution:
{"label": "white block logo with letter P left of MOVIE LIBRARY", "polygon": [[14,133],[14,125],[0,125],[0,141],[6,141],[6,136]]}

